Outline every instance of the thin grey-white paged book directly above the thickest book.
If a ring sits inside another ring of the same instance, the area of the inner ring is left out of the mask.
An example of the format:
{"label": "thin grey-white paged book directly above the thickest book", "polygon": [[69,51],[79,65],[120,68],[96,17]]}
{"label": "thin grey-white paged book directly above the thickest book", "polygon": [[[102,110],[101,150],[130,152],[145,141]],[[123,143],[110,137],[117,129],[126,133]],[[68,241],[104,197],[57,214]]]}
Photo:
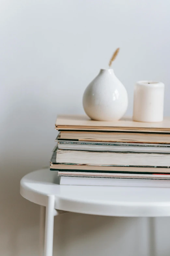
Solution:
{"label": "thin grey-white paged book directly above the thickest book", "polygon": [[112,152],[143,152],[143,153],[170,153],[169,144],[135,144],[135,143],[108,143],[108,142],[77,142],[60,141],[54,148],[58,149],[82,150],[82,151],[112,151]]}

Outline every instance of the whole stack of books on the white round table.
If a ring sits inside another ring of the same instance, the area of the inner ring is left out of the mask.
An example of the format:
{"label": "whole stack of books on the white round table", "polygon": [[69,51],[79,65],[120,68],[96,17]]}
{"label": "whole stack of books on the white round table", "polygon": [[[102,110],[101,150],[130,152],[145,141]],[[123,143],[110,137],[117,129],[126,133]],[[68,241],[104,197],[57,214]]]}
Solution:
{"label": "whole stack of books on the white round table", "polygon": [[102,122],[63,115],[55,128],[60,133],[50,170],[58,170],[60,184],[170,186],[169,118]]}

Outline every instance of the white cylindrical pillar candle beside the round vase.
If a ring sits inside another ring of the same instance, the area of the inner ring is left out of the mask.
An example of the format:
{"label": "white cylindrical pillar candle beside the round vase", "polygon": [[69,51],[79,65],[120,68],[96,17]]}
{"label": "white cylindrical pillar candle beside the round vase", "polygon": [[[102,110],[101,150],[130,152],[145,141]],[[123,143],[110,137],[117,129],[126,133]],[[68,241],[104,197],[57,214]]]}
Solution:
{"label": "white cylindrical pillar candle beside the round vase", "polygon": [[163,121],[164,84],[139,81],[135,84],[133,120],[138,122]]}

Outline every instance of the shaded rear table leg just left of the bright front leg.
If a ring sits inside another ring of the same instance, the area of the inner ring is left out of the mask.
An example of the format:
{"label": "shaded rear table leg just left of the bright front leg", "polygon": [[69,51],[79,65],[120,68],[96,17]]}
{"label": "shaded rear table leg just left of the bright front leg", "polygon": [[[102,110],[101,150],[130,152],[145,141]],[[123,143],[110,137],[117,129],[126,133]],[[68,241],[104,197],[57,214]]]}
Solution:
{"label": "shaded rear table leg just left of the bright front leg", "polygon": [[46,207],[41,205],[39,222],[39,256],[44,256],[45,216]]}

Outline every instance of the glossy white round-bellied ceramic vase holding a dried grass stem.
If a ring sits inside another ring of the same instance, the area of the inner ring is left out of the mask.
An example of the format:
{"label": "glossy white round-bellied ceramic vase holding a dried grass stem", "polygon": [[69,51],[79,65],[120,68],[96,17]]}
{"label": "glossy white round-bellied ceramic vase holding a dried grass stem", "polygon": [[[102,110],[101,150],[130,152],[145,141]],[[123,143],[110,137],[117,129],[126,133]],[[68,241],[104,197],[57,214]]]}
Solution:
{"label": "glossy white round-bellied ceramic vase holding a dried grass stem", "polygon": [[127,91],[113,69],[101,69],[83,95],[84,111],[93,120],[119,120],[127,106]]}

